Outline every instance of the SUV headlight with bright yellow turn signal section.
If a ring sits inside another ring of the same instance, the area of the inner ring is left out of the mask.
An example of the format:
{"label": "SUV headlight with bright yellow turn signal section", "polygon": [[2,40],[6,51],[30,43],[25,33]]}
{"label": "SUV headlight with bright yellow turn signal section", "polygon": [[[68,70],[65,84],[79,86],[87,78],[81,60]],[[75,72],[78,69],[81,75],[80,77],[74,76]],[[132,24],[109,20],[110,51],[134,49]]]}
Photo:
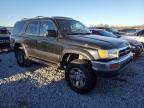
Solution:
{"label": "SUV headlight with bright yellow turn signal section", "polygon": [[112,50],[98,50],[99,57],[101,59],[112,59],[112,58],[118,58],[119,57],[119,51],[116,49]]}

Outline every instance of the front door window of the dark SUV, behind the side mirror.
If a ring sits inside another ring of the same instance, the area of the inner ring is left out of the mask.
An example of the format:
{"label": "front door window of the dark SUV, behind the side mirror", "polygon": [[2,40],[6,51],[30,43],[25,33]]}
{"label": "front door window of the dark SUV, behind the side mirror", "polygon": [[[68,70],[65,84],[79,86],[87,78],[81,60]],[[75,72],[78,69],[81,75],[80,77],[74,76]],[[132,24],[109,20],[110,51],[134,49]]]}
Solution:
{"label": "front door window of the dark SUV, behind the side mirror", "polygon": [[47,30],[56,30],[56,26],[53,21],[41,21],[40,22],[40,36],[46,36]]}

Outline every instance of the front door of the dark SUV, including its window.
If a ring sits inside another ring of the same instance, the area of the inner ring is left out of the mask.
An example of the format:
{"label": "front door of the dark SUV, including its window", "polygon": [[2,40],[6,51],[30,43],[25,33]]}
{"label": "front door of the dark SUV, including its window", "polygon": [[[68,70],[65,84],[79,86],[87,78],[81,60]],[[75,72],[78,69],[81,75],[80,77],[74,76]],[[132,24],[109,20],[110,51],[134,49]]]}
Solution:
{"label": "front door of the dark SUV, including its window", "polygon": [[57,31],[54,22],[52,20],[40,21],[37,51],[44,60],[58,63],[62,45],[60,44],[58,37],[47,36],[48,30]]}

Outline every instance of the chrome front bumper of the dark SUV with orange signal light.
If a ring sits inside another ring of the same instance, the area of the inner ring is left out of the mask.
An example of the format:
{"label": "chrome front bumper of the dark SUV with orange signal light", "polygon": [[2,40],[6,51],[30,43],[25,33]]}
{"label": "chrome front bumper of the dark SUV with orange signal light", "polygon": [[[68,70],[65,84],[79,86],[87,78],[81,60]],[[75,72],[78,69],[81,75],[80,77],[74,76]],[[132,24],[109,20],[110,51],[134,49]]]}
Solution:
{"label": "chrome front bumper of the dark SUV with orange signal light", "polygon": [[119,73],[133,59],[133,53],[129,53],[117,60],[108,62],[92,61],[92,69],[98,76],[113,76]]}

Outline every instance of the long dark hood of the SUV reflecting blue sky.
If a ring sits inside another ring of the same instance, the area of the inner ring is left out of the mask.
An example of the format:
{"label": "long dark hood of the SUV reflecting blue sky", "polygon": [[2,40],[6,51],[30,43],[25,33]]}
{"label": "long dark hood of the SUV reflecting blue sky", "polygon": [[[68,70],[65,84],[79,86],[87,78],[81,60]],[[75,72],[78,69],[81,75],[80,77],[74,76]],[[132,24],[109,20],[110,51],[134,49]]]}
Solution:
{"label": "long dark hood of the SUV reflecting blue sky", "polygon": [[94,49],[117,49],[128,46],[128,42],[125,40],[97,35],[69,35],[67,39],[73,45]]}

